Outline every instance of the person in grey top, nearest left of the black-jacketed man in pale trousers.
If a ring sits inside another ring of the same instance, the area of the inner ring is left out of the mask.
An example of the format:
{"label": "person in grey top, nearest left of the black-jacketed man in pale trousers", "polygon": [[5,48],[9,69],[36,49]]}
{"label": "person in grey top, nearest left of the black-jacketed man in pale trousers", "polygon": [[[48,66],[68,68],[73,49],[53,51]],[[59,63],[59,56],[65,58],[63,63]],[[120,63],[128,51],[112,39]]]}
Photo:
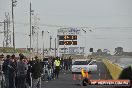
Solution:
{"label": "person in grey top, nearest left of the black-jacketed man in pale trousers", "polygon": [[27,74],[28,66],[23,61],[23,59],[24,59],[24,55],[20,55],[20,61],[17,63],[17,77],[18,77],[17,88],[26,87],[26,74]]}

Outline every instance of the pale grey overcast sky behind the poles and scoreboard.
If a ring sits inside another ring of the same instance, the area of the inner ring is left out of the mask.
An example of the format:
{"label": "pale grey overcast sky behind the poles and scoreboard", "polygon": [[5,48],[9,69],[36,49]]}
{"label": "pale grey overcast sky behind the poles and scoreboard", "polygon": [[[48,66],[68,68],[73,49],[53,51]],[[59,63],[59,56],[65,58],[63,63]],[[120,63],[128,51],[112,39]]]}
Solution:
{"label": "pale grey overcast sky behind the poles and scoreboard", "polygon": [[[49,36],[56,36],[58,25],[68,27],[90,27],[82,32],[82,45],[86,37],[87,49],[93,47],[114,51],[121,46],[132,51],[132,0],[17,0],[14,8],[16,47],[29,46],[29,5],[32,3],[38,20],[39,31],[45,31],[45,47],[49,47]],[[0,0],[0,21],[5,12],[11,15],[11,0]],[[103,28],[102,28],[103,27]],[[104,28],[105,27],[105,28]],[[89,32],[88,30],[93,30]],[[3,30],[2,25],[0,31]],[[12,28],[11,28],[12,30]],[[46,31],[49,30],[50,34]],[[3,34],[0,34],[2,46]],[[39,47],[42,46],[41,36]],[[52,43],[52,47],[54,43]]]}

